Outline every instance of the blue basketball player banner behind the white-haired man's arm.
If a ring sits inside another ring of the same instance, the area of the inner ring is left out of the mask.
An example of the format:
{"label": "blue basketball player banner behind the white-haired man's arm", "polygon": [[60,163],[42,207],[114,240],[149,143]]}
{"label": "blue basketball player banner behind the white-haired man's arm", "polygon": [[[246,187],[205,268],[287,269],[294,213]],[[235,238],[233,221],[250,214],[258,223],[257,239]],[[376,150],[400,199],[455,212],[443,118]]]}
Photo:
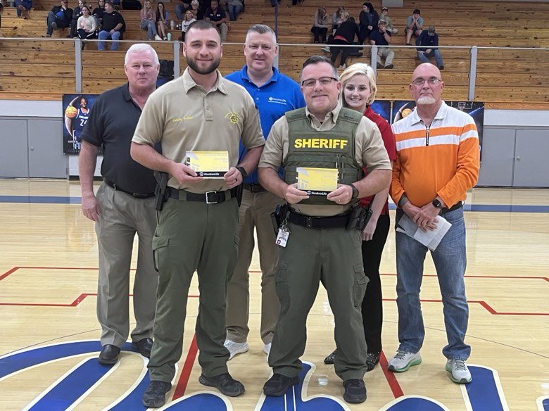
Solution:
{"label": "blue basketball player banner behind the white-haired man's arm", "polygon": [[99,94],[63,94],[63,153],[80,153],[80,133]]}

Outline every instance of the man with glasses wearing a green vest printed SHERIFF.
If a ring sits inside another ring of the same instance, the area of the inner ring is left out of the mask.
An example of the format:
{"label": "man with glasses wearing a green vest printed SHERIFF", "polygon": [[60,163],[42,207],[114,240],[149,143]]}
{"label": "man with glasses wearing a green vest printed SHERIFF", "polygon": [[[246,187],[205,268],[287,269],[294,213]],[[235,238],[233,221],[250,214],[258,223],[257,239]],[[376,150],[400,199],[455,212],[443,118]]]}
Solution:
{"label": "man with glasses wearing a green vest printed SHERIFF", "polygon": [[[343,398],[362,403],[366,388],[367,348],[360,303],[367,277],[362,267],[360,232],[347,228],[353,204],[389,186],[391,164],[379,129],[360,113],[341,107],[341,83],[329,59],[313,56],[303,63],[301,91],[307,106],[274,123],[259,163],[265,189],[284,198],[284,235],[275,278],[281,313],[269,355],[274,375],[265,383],[267,396],[283,396],[298,382],[305,351],[305,323],[319,282],[327,289],[336,322],[336,374]],[[278,175],[284,165],[284,179]],[[367,165],[367,177],[362,177]],[[339,184],[327,196],[308,196],[297,189],[297,167],[336,168]]]}

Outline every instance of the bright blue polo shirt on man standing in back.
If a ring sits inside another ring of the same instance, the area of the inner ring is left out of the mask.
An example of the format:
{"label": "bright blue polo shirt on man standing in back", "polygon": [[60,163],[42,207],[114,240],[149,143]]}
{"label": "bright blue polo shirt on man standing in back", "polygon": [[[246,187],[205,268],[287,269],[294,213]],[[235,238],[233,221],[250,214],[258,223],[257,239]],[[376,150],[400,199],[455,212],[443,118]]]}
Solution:
{"label": "bright blue polo shirt on man standing in back", "polygon": [[[244,87],[252,96],[255,106],[259,110],[261,129],[265,139],[271,131],[275,121],[281,118],[286,111],[295,110],[305,106],[305,99],[301,94],[301,88],[290,77],[280,73],[277,68],[272,68],[272,77],[261,87],[256,86],[248,77],[248,66],[240,71],[233,72],[225,77]],[[244,158],[246,147],[240,144],[239,158]],[[282,171],[280,172],[282,176]],[[246,179],[245,184],[257,183],[258,172],[254,170]]]}

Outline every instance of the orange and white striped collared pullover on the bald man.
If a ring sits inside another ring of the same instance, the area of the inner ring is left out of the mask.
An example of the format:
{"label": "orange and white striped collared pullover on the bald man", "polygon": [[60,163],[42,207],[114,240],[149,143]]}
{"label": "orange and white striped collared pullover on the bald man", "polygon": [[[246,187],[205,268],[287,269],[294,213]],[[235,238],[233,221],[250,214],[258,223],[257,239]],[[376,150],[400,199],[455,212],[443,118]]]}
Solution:
{"label": "orange and white striped collared pullover on the bald man", "polygon": [[473,118],[442,101],[427,127],[414,110],[393,124],[397,158],[391,198],[405,193],[417,207],[440,196],[449,207],[464,201],[479,177],[479,134]]}

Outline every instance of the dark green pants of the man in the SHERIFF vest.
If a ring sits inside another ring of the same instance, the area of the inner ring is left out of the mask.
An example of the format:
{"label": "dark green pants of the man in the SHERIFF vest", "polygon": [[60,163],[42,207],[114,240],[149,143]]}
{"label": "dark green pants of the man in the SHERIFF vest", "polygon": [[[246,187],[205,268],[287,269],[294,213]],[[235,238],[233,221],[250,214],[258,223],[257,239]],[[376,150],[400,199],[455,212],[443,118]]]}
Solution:
{"label": "dark green pants of the man in the SHERIFF vest", "polygon": [[280,248],[279,269],[274,281],[280,301],[280,317],[274,331],[269,365],[273,372],[297,377],[299,358],[305,352],[306,322],[320,282],[336,329],[336,374],[343,380],[362,379],[366,372],[367,347],[362,327],[362,299],[367,277],[362,266],[358,230],[309,229],[289,224],[286,248]]}

